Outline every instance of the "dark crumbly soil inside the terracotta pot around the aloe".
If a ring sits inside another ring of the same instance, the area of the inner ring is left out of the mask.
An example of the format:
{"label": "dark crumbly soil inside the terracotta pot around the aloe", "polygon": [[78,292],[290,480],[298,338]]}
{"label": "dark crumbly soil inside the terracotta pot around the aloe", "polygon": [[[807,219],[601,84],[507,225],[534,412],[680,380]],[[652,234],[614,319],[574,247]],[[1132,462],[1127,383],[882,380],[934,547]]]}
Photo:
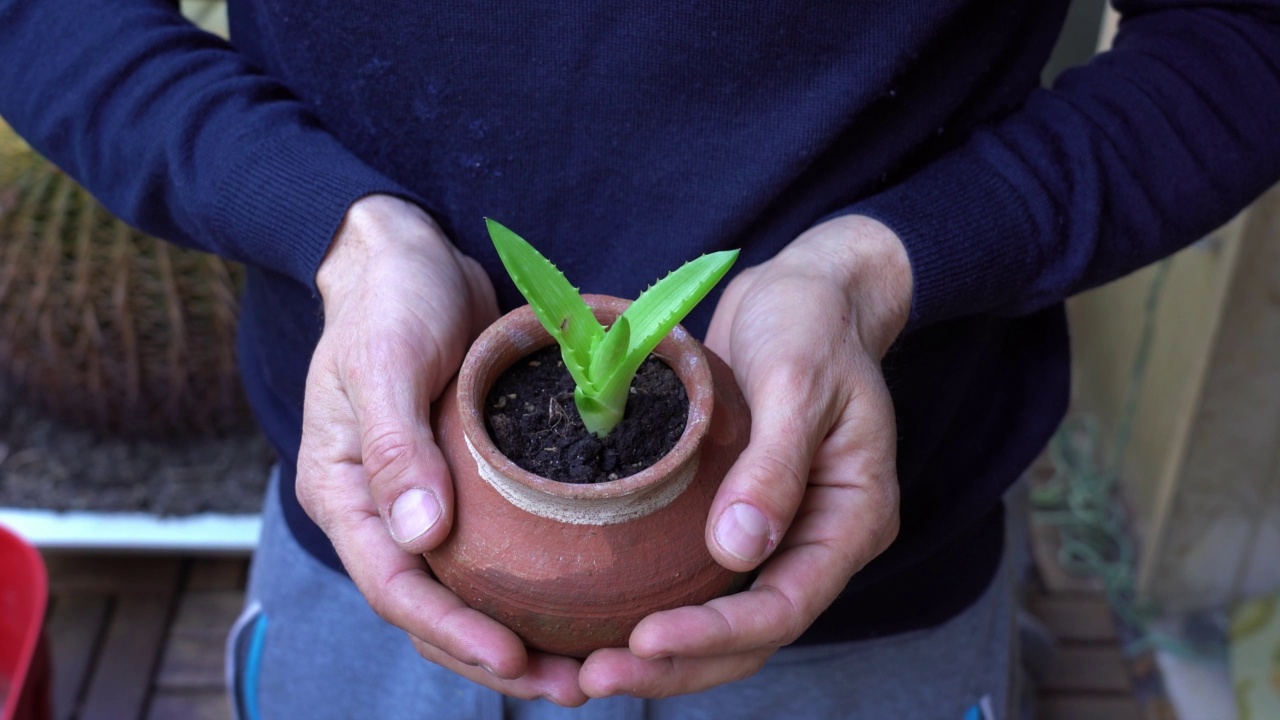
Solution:
{"label": "dark crumbly soil inside the terracotta pot around the aloe", "polygon": [[485,400],[485,424],[503,455],[530,473],[566,483],[634,475],[671,452],[685,432],[689,396],[675,370],[654,356],[640,365],[618,427],[598,438],[573,405],[573,378],[559,346],[524,357]]}

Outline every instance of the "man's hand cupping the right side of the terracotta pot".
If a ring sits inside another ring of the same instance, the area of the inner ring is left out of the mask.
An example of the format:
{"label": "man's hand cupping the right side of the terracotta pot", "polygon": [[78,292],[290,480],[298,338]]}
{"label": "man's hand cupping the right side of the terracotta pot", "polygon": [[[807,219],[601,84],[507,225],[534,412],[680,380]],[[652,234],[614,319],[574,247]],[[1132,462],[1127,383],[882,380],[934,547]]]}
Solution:
{"label": "man's hand cupping the right side of the terracotta pot", "polygon": [[753,585],[645,618],[582,666],[591,697],[667,697],[758,671],[897,534],[896,432],[879,361],[911,274],[884,225],[846,217],[735,278],[707,345],[733,368],[751,439],[712,505],[707,544]]}

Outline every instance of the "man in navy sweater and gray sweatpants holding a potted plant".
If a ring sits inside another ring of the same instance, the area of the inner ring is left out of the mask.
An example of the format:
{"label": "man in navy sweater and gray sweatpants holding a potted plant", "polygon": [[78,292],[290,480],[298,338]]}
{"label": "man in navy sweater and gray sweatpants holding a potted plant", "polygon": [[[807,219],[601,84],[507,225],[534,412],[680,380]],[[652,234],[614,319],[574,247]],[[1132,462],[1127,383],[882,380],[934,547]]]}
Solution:
{"label": "man in navy sweater and gray sweatpants holding a potted plant", "polygon": [[[1116,49],[1043,91],[1064,1],[276,0],[230,5],[233,46],[157,0],[9,1],[0,113],[251,266],[241,359],[283,465],[247,714],[1004,716],[1000,497],[1065,406],[1062,299],[1280,177],[1277,4],[1117,6]],[[517,304],[483,217],[620,296],[742,249],[687,327],[751,406],[708,518],[749,591],[580,664],[431,579],[428,410]]]}

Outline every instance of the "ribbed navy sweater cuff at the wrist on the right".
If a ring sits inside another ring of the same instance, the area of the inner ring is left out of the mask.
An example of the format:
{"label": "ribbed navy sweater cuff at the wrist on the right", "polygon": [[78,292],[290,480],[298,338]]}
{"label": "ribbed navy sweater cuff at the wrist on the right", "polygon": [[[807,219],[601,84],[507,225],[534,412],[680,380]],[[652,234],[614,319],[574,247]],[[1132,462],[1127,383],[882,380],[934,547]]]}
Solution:
{"label": "ribbed navy sweater cuff at the wrist on the right", "polygon": [[841,214],[867,215],[897,233],[911,261],[908,331],[1019,297],[1042,264],[1024,197],[984,161],[948,155]]}

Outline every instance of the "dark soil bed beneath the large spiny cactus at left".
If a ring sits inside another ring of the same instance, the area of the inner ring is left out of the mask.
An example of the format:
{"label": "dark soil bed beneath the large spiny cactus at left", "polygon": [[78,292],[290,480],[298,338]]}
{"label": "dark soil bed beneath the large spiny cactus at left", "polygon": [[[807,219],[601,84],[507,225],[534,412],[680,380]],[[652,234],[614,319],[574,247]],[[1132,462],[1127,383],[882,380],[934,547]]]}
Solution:
{"label": "dark soil bed beneath the large spiny cactus at left", "polygon": [[105,437],[61,424],[0,384],[0,507],[257,512],[274,461],[256,428],[180,442]]}

